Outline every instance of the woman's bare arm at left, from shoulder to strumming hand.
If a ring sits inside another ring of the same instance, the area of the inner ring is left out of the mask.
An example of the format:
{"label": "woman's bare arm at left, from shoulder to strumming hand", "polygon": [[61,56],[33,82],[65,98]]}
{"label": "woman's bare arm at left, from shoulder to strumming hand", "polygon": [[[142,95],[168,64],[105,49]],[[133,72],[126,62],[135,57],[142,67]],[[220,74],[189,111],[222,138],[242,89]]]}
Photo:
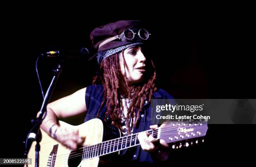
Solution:
{"label": "woman's bare arm at left, from shoulder to strumming hand", "polygon": [[[85,137],[83,137],[84,139],[80,137],[78,129],[75,129],[75,127],[66,127],[62,125],[58,127],[56,126],[56,122],[57,120],[86,114],[87,108],[84,101],[85,92],[86,88],[83,88],[76,91],[74,94],[49,103],[46,108],[47,114],[41,124],[41,128],[44,132],[72,150],[77,149],[77,144],[82,144]],[[39,111],[38,116],[40,113],[41,112]]]}

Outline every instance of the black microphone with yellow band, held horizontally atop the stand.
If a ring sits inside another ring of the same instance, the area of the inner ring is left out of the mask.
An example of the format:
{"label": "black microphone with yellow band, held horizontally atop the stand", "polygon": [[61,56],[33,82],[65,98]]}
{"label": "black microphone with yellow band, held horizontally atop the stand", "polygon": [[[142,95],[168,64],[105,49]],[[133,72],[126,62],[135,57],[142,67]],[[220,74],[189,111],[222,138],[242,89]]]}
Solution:
{"label": "black microphone with yellow band, held horizontally atop the stand", "polygon": [[87,48],[82,48],[79,51],[49,51],[42,53],[44,57],[61,57],[61,58],[82,58],[89,55]]}

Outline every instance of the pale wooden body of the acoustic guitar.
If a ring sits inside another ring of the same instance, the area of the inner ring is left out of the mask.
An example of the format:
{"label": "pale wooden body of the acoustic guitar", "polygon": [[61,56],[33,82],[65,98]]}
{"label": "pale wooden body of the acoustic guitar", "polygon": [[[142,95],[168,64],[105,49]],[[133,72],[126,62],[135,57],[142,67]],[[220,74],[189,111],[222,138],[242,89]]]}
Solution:
{"label": "pale wooden body of the acoustic guitar", "polygon": [[[59,121],[61,127],[71,127],[79,129],[79,135],[85,137],[85,142],[80,147],[90,146],[100,143],[108,139],[120,137],[118,128],[112,125],[103,124],[100,119],[91,119],[79,126],[72,126],[65,122]],[[99,157],[82,161],[81,149],[80,152],[71,151],[63,146],[55,139],[49,137],[43,130],[42,141],[40,142],[41,151],[39,157],[40,167],[97,167]],[[35,145],[33,142],[28,153],[28,158],[32,158],[32,164],[29,167],[35,166]],[[79,149],[79,147],[78,147]],[[26,165],[25,165],[26,166]]]}

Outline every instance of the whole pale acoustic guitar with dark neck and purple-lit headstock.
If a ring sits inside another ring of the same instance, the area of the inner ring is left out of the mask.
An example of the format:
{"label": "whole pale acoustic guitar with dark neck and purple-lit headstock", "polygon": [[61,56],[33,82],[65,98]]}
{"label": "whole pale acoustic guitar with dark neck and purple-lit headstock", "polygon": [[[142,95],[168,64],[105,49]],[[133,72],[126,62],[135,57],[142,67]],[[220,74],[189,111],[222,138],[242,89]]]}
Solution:
{"label": "whole pale acoustic guitar with dark neck and purple-lit headstock", "polygon": [[[105,124],[100,119],[91,119],[78,126],[72,126],[62,121],[59,121],[59,124],[63,127],[79,129],[79,135],[85,137],[85,141],[76,151],[71,151],[41,130],[40,167],[97,167],[101,156],[140,144],[139,133],[121,137],[117,127]],[[145,132],[156,139],[163,139],[166,143],[172,143],[172,148],[177,149],[188,147],[199,141],[202,142],[202,137],[206,135],[207,129],[206,122],[193,124],[170,122],[164,127]],[[32,144],[28,152],[28,158],[32,158],[32,164],[28,165],[29,167],[35,166],[35,145],[36,142]]]}

